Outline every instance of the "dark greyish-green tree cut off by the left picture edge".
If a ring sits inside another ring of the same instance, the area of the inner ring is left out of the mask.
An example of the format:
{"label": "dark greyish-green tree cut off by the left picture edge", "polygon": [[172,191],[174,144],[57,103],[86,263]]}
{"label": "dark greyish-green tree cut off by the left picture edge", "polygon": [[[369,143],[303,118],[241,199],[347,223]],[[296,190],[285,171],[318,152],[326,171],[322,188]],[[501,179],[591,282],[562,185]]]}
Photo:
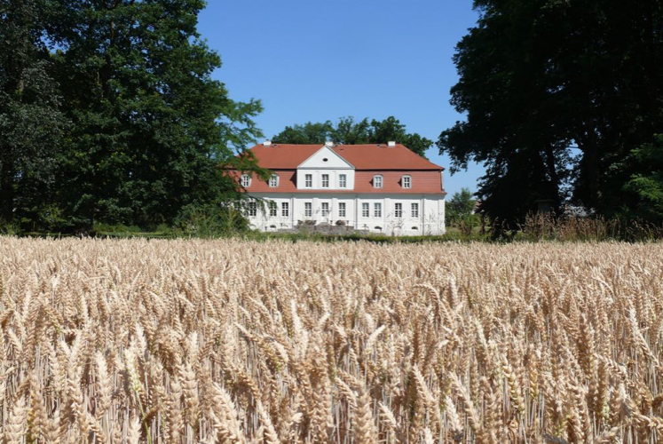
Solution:
{"label": "dark greyish-green tree cut off by the left picture edge", "polygon": [[0,0],[0,219],[38,222],[65,119],[43,39],[48,2]]}

